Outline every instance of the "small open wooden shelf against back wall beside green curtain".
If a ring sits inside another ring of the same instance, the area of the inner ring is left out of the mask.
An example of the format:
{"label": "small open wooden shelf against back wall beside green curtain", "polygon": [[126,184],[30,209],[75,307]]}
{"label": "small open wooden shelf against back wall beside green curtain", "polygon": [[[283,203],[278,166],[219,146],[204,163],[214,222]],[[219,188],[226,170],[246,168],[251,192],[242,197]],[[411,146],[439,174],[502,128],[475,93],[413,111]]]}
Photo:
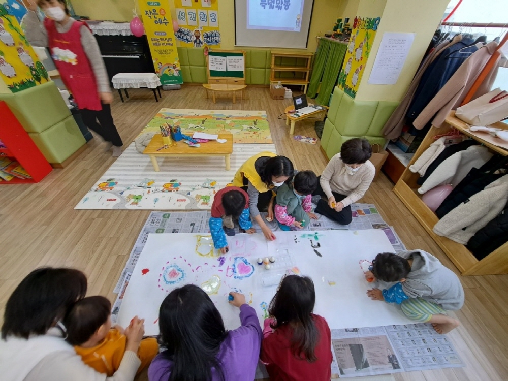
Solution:
{"label": "small open wooden shelf against back wall beside green curtain", "polygon": [[[280,52],[280,51],[272,50],[271,54],[272,54],[272,62],[270,65],[270,69],[271,69],[270,84],[280,82],[281,84],[284,84],[284,85],[302,85],[302,86],[304,86],[303,92],[306,93],[307,86],[309,84],[310,71],[311,71],[310,64],[312,63],[312,56],[314,55],[314,53],[288,53],[288,52]],[[305,59],[305,63],[302,66],[299,66],[299,65],[284,66],[282,64],[277,65],[275,63],[277,58],[281,58],[282,60],[284,58],[296,58],[297,60],[298,60],[298,58],[303,58],[303,59]],[[277,72],[298,72],[298,73],[303,73],[304,77],[303,78],[276,77],[275,73],[277,73]]]}

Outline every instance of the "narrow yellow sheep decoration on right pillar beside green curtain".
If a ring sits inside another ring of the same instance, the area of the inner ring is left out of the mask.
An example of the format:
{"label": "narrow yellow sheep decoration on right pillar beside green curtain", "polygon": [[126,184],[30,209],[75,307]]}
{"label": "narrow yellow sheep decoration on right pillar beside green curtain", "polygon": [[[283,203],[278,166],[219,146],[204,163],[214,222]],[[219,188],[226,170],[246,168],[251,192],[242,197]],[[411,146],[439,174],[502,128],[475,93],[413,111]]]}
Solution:
{"label": "narrow yellow sheep decoration on right pillar beside green curtain", "polygon": [[355,17],[353,31],[339,74],[339,88],[351,98],[356,97],[380,21],[380,17]]}

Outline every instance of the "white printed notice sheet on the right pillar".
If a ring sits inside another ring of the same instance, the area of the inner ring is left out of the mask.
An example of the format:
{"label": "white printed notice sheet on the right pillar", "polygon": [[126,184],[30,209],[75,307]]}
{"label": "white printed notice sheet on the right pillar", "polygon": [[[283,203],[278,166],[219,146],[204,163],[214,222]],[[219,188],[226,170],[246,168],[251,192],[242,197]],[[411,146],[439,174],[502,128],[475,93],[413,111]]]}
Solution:
{"label": "white printed notice sheet on the right pillar", "polygon": [[414,33],[385,33],[369,77],[371,85],[394,85],[406,61]]}

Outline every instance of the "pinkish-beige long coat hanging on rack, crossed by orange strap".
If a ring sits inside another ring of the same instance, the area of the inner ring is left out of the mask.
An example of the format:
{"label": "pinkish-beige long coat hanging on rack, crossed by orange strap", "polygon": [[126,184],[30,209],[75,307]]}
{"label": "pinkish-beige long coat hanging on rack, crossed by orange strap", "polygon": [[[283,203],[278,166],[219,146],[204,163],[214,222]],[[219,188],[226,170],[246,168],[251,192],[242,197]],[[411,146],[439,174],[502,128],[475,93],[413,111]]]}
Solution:
{"label": "pinkish-beige long coat hanging on rack, crossed by orange strap", "polygon": [[[444,119],[450,114],[450,111],[456,110],[462,104],[467,93],[471,89],[474,81],[478,78],[487,61],[495,52],[498,44],[495,41],[489,42],[487,45],[475,51],[467,58],[455,74],[448,80],[436,96],[429,102],[427,107],[418,115],[413,125],[421,130],[432,119],[432,125],[439,127]],[[499,69],[500,57],[495,62],[493,69],[482,82],[477,92],[474,93],[472,99],[483,96],[490,91],[494,83]]]}

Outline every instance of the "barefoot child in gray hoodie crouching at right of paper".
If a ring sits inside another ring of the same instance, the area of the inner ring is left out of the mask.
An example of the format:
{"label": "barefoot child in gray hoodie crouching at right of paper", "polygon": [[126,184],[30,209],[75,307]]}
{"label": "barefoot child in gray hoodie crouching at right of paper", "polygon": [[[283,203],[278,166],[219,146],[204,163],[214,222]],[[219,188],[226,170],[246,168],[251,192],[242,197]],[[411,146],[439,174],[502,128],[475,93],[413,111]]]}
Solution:
{"label": "barefoot child in gray hoodie crouching at right of paper", "polygon": [[459,326],[459,321],[446,313],[462,308],[462,284],[455,273],[428,252],[380,253],[365,277],[397,282],[387,290],[368,290],[372,300],[400,304],[409,319],[432,323],[437,333],[448,333]]}

